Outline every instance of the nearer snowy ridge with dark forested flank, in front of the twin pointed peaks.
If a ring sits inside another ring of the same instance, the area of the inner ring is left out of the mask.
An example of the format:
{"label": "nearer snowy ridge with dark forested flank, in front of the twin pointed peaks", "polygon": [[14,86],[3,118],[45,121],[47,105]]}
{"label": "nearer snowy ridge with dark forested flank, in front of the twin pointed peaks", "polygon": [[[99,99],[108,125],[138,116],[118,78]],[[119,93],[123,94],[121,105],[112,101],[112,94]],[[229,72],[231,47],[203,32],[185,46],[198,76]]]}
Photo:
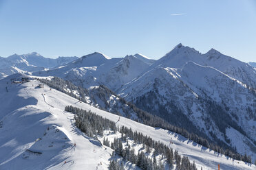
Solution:
{"label": "nearer snowy ridge with dark forested flank, in front of the twin pointed peaks", "polygon": [[[256,157],[255,90],[212,67],[194,62],[181,69],[156,67],[123,86],[120,95],[174,125]],[[229,127],[243,138],[226,133]]]}

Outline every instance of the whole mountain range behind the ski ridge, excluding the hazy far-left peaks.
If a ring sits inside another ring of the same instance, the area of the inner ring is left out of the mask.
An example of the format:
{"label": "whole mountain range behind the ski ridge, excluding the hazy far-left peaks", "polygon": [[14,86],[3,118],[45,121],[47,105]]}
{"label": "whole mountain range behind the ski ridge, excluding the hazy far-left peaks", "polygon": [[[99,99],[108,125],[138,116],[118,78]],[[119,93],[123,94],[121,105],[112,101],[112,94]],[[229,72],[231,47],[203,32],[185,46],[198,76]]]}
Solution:
{"label": "whole mountain range behind the ski ridge, excluding the hazy far-left peaks", "polygon": [[33,75],[61,77],[87,89],[107,86],[173,125],[256,158],[256,70],[215,49],[203,54],[179,44],[156,61],[92,53]]}

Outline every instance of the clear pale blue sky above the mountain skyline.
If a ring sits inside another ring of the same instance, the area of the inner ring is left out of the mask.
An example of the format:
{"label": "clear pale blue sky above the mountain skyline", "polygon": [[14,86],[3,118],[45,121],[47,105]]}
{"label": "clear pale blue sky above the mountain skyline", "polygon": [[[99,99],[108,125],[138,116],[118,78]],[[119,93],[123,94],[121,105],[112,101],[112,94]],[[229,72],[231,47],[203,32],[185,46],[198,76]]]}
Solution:
{"label": "clear pale blue sky above the mountain skyline", "polygon": [[99,51],[158,59],[175,45],[256,61],[255,0],[0,0],[0,56]]}

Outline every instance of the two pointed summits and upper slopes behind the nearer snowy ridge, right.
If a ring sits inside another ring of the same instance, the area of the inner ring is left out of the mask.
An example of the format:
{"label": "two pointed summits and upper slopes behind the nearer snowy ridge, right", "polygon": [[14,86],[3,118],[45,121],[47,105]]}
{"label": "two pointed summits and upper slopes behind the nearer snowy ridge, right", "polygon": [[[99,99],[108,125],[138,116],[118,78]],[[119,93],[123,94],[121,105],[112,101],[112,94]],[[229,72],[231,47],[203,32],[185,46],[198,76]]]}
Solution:
{"label": "two pointed summits and upper slopes behind the nearer snowy ridge, right", "polygon": [[226,73],[227,75],[247,84],[252,88],[256,88],[256,71],[252,66],[225,56],[224,54],[211,49],[205,54],[196,51],[193,48],[185,47],[182,44],[174,47],[172,51],[167,53],[164,57],[157,60],[149,68],[155,68],[156,66],[171,67],[180,69],[186,62],[195,62],[202,66],[212,66],[213,68]]}

